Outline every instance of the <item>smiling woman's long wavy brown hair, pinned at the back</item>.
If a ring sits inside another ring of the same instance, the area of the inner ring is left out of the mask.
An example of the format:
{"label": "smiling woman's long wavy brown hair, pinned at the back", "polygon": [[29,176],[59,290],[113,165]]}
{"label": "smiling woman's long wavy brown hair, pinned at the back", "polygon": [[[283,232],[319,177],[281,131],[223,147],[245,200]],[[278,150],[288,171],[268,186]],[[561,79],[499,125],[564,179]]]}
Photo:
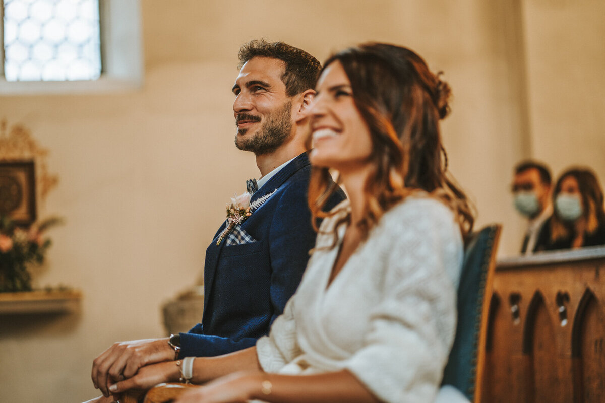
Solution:
{"label": "smiling woman's long wavy brown hair, pinned at the back", "polygon": [[[466,236],[473,228],[473,207],[446,171],[439,131],[439,120],[450,111],[450,86],[416,53],[395,45],[348,48],[330,57],[324,70],[335,62],[344,68],[355,105],[370,130],[373,172],[365,183],[365,211],[359,222],[364,235],[385,211],[424,190],[454,211]],[[322,208],[335,189],[329,170],[313,166],[309,207],[316,230],[317,218],[333,214]]]}

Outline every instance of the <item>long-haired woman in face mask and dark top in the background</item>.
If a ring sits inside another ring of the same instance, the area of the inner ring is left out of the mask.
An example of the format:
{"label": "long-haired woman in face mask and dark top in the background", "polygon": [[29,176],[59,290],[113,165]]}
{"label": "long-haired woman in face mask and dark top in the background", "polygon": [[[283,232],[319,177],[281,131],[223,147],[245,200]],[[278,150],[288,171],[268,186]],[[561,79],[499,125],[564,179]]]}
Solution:
{"label": "long-haired woman in face mask and dark top in the background", "polygon": [[555,211],[550,219],[547,250],[605,245],[603,189],[587,168],[563,172],[552,195]]}

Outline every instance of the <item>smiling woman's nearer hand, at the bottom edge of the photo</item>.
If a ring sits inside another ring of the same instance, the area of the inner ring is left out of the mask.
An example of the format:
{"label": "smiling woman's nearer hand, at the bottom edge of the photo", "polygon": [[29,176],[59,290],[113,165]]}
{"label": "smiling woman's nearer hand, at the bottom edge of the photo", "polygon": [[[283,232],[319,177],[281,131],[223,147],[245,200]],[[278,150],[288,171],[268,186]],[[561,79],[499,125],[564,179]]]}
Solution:
{"label": "smiling woman's nearer hand, at the bottom edge of the photo", "polygon": [[175,403],[246,403],[261,382],[257,372],[238,372],[188,390]]}

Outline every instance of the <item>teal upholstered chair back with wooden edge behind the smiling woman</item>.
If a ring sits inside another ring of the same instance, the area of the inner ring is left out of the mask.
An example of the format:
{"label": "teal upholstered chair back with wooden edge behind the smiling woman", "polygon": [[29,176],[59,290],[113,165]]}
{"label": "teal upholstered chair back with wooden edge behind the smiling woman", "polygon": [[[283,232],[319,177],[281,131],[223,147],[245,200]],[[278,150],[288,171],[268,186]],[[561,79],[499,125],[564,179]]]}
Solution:
{"label": "teal upholstered chair back with wooden edge behind the smiling woman", "polygon": [[[458,288],[456,337],[443,372],[444,385],[453,385],[471,402],[479,401],[485,355],[487,305],[491,292],[499,224],[488,225],[469,236]],[[485,305],[485,306],[484,306]]]}

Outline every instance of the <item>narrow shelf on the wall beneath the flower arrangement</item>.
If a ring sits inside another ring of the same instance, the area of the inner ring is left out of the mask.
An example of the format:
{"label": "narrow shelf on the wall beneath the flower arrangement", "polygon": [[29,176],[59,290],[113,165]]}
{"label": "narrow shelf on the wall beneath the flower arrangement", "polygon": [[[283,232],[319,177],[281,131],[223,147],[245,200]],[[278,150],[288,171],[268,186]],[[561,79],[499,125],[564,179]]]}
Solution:
{"label": "narrow shelf on the wall beneath the flower arrangement", "polygon": [[0,292],[0,315],[74,312],[79,309],[80,291]]}

